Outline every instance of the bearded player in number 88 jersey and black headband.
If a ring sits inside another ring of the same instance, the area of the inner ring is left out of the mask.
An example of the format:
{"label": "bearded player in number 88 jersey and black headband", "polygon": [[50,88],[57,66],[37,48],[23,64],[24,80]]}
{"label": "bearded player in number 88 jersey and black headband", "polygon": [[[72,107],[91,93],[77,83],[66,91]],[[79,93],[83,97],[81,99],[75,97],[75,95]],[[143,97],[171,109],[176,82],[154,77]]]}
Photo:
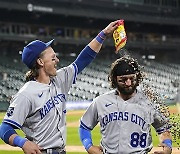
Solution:
{"label": "bearded player in number 88 jersey and black headband", "polygon": [[[130,56],[112,63],[108,77],[112,91],[96,97],[80,120],[80,139],[89,154],[145,154],[152,149],[151,125],[160,136],[162,151],[170,154],[168,119],[137,86],[143,79],[140,65]],[[92,143],[91,130],[100,124],[100,146]]]}

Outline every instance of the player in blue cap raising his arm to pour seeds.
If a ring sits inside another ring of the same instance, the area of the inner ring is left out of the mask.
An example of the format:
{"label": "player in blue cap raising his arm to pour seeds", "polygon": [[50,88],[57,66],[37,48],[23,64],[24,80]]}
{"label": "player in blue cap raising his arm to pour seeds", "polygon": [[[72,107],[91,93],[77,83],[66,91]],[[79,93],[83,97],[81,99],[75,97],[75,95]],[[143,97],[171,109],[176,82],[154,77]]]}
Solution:
{"label": "player in blue cap raising his arm to pour seeds", "polygon": [[[35,40],[24,47],[22,61],[30,69],[27,82],[12,98],[0,127],[4,142],[26,154],[64,154],[66,145],[66,100],[76,76],[95,58],[106,36],[117,28],[111,22],[67,67],[57,70],[59,59],[53,40]],[[22,129],[26,138],[15,129]]]}

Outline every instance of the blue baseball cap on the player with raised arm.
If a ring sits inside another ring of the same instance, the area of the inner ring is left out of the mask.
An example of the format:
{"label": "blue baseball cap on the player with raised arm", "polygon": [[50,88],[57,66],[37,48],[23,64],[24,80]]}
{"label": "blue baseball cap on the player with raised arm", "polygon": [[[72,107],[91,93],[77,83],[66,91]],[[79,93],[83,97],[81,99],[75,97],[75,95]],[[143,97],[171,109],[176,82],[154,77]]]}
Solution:
{"label": "blue baseball cap on the player with raised arm", "polygon": [[22,61],[28,68],[32,68],[36,59],[47,47],[49,47],[54,39],[45,43],[40,40],[35,40],[30,42],[27,46],[24,47],[22,52]]}

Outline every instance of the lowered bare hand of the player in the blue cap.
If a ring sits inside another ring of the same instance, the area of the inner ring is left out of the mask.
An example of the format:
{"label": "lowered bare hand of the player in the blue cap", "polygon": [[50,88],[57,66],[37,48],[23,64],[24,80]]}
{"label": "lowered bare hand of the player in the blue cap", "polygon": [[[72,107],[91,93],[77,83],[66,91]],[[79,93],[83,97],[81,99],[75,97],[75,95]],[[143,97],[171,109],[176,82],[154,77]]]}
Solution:
{"label": "lowered bare hand of the player in the blue cap", "polygon": [[41,150],[43,150],[43,148],[31,141],[26,141],[22,149],[25,154],[42,154]]}

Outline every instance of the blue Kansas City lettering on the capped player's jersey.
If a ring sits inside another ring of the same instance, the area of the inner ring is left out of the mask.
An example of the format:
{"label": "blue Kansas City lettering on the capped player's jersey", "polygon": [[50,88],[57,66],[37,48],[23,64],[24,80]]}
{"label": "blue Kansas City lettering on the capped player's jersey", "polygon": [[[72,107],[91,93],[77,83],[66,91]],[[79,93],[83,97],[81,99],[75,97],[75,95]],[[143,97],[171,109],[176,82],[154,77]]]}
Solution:
{"label": "blue Kansas City lettering on the capped player's jersey", "polygon": [[43,119],[46,114],[55,107],[56,104],[59,104],[61,102],[65,102],[66,98],[64,94],[58,94],[57,96],[51,97],[43,106],[43,108],[41,108],[39,110],[41,119]]}

